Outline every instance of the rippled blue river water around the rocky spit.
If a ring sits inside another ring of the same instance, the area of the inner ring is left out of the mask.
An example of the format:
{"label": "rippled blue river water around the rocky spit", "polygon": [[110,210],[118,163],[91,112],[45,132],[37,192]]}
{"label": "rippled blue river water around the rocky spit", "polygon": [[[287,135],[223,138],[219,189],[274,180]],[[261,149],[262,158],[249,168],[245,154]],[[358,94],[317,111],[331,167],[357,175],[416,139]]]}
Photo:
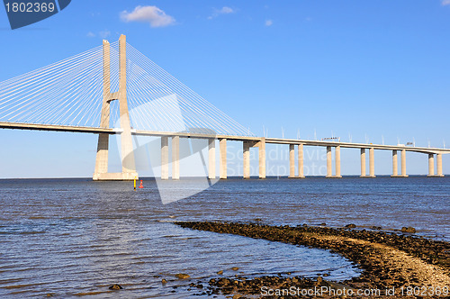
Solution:
{"label": "rippled blue river water around the rocky spit", "polygon": [[[450,177],[229,179],[172,204],[161,204],[155,182],[144,186],[135,192],[125,182],[0,180],[0,296],[184,298],[193,292],[183,285],[219,270],[358,275],[352,263],[325,250],[190,231],[173,221],[413,226],[450,240]],[[172,188],[189,193],[192,186],[182,180]],[[193,280],[176,280],[176,273]],[[108,293],[114,283],[124,289]]]}

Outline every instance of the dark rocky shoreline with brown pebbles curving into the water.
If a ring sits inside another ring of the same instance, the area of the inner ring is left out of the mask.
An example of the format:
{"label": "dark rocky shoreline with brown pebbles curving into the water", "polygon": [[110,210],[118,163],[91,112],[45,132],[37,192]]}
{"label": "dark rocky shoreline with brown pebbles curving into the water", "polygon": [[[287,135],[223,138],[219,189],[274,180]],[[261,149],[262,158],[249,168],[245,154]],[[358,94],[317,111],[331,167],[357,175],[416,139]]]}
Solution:
{"label": "dark rocky shoreline with brown pebbles curving into the water", "polygon": [[[312,227],[307,225],[269,226],[239,222],[175,222],[184,228],[200,231],[230,233],[255,239],[280,241],[311,248],[329,249],[355,262],[363,272],[361,276],[335,283],[318,277],[311,280],[300,276],[262,276],[249,279],[244,276],[214,277],[198,294],[230,294],[233,297],[252,298],[262,294],[261,287],[279,290],[329,289],[335,292],[305,294],[306,297],[335,297],[343,290],[395,290],[395,295],[405,297],[408,287],[428,287],[427,295],[436,295],[436,289],[450,287],[450,243],[428,240],[409,233],[357,230],[355,225],[344,228]],[[193,288],[200,287],[191,284]],[[340,291],[339,291],[340,290]],[[338,291],[338,293],[336,293]],[[345,291],[344,291],[345,292]],[[269,293],[266,293],[269,294]],[[287,294],[292,297],[300,293]],[[347,293],[352,294],[352,293]],[[286,294],[268,297],[282,298]],[[355,295],[355,293],[353,293]],[[417,295],[417,294],[416,294]],[[416,297],[412,294],[413,297]],[[359,297],[371,297],[363,295]],[[390,296],[393,297],[392,295]]]}

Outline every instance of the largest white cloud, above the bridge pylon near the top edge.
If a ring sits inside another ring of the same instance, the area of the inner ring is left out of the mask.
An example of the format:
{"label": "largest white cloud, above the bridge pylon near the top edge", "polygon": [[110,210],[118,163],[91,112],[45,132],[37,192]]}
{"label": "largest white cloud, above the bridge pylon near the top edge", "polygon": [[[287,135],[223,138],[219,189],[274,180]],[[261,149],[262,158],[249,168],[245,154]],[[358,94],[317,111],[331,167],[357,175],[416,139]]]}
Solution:
{"label": "largest white cloud, above the bridge pylon near the top edge", "polygon": [[150,27],[166,27],[175,23],[175,18],[167,15],[157,6],[136,6],[134,11],[121,12],[123,22],[144,22],[149,23]]}

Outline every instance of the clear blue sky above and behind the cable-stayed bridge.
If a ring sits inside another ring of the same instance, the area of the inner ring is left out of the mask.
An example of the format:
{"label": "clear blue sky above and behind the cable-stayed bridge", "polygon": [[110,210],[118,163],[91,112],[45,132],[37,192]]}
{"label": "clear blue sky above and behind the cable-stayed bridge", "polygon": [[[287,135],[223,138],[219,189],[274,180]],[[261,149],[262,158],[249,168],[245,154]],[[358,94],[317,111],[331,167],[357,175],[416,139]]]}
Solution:
{"label": "clear blue sky above and behind the cable-stayed bridge", "polygon": [[[138,6],[159,11],[129,14]],[[76,0],[14,31],[0,8],[0,81],[121,33],[257,135],[450,145],[450,1]],[[92,175],[94,135],[0,134],[0,177]],[[376,155],[377,174],[389,174],[390,154]],[[355,160],[343,174],[357,174],[356,151],[342,156]],[[409,156],[410,174],[427,166]]]}

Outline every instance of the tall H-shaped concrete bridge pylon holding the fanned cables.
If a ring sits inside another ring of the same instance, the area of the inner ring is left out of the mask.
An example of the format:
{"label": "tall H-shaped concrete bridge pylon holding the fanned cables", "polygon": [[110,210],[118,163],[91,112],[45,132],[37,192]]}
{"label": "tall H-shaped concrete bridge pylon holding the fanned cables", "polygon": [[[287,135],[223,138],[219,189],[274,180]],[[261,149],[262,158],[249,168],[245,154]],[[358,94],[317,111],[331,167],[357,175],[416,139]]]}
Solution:
{"label": "tall H-shaped concrete bridge pylon holding the fanned cables", "polygon": [[103,104],[101,111],[101,128],[110,127],[111,102],[119,101],[121,124],[121,172],[108,172],[108,151],[110,135],[98,135],[97,155],[95,158],[94,181],[133,180],[139,178],[134,160],[131,138],[130,113],[127,102],[127,57],[126,37],[119,38],[119,90],[111,92],[111,52],[110,43],[103,41]]}

